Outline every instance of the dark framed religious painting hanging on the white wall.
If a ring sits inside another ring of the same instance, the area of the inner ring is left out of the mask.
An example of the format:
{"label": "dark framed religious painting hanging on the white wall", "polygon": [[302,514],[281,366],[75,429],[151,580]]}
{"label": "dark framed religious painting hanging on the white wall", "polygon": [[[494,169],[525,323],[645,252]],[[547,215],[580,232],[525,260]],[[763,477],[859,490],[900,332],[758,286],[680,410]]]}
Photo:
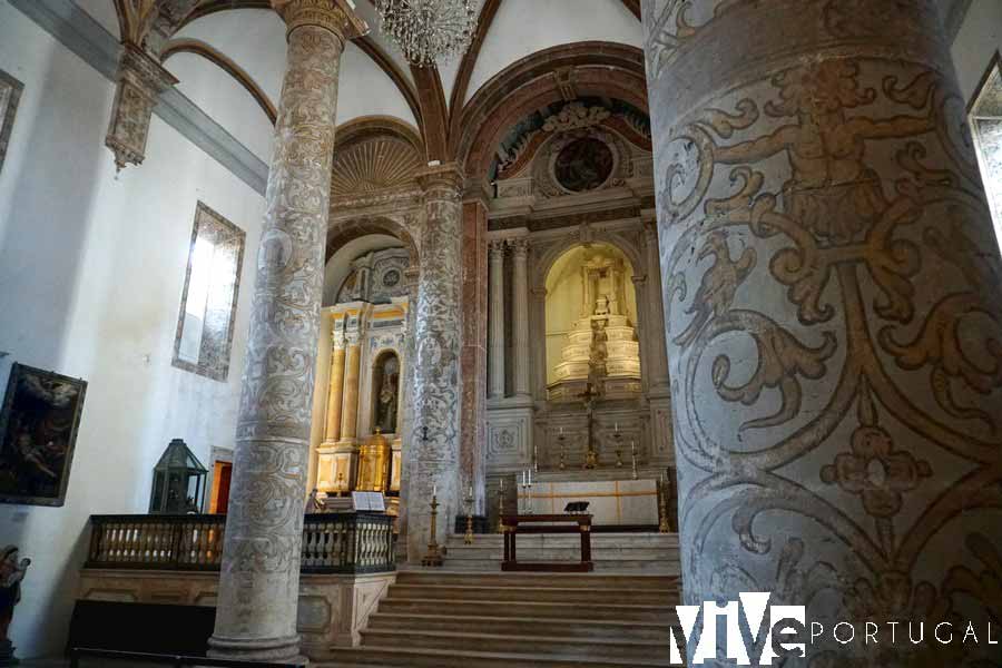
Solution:
{"label": "dark framed religious painting hanging on the white wall", "polygon": [[87,383],[14,364],[0,412],[0,502],[62,505]]}

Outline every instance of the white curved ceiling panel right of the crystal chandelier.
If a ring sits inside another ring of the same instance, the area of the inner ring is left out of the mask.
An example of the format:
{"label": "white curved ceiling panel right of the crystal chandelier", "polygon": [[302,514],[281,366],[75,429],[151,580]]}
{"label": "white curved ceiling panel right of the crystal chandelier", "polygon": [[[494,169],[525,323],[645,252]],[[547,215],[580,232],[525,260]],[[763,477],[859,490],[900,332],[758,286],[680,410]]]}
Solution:
{"label": "white curved ceiling panel right of the crystal chandelier", "polygon": [[[466,100],[512,62],[550,47],[603,40],[642,48],[640,21],[620,0],[572,0],[572,3],[571,11],[568,0],[502,2],[483,40]],[[453,81],[443,81],[448,91],[452,86]]]}

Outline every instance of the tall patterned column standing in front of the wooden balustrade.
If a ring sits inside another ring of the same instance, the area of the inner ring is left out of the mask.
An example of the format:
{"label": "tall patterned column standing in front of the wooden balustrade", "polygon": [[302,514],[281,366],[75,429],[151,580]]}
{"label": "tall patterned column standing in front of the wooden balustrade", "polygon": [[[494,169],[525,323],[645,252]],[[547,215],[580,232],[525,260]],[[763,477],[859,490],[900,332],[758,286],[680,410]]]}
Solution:
{"label": "tall patterned column standing in front of the wooden balustrade", "polygon": [[214,656],[298,656],[296,608],[337,71],[365,26],[344,0],[273,0],[285,81],[237,421]]}

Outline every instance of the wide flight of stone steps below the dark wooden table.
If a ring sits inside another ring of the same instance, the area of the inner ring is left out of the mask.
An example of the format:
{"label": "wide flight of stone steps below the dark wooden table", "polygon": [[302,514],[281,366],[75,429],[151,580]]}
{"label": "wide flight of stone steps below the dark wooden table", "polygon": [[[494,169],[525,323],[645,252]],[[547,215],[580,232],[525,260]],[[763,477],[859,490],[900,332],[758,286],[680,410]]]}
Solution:
{"label": "wide flight of stone steps below the dark wooden table", "polygon": [[403,570],[356,648],[322,666],[668,666],[678,578]]}

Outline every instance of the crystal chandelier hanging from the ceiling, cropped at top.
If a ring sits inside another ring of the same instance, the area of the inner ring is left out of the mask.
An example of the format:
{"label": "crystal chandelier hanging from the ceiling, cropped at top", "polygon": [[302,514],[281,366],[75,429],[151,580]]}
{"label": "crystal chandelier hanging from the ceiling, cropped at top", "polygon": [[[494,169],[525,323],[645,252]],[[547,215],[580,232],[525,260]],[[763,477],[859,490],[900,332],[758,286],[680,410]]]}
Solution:
{"label": "crystal chandelier hanging from the ceiling, cropped at top", "polygon": [[382,31],[418,67],[461,56],[477,30],[477,0],[374,0]]}

